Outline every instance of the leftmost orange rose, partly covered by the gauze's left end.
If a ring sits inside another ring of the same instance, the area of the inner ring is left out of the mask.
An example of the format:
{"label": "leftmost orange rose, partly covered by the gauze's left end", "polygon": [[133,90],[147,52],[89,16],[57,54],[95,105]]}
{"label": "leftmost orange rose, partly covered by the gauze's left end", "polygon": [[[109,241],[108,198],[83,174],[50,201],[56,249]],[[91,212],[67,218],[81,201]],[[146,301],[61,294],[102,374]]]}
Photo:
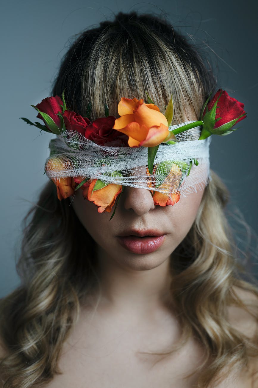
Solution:
{"label": "leftmost orange rose, partly covered by the gauze's left end", "polygon": [[[45,170],[46,171],[58,171],[67,168],[67,166],[71,167],[71,162],[69,159],[58,159],[52,157],[48,159]],[[72,177],[66,178],[52,178],[51,179],[56,185],[56,194],[58,199],[61,201],[67,197],[70,197],[74,193],[75,182]]]}

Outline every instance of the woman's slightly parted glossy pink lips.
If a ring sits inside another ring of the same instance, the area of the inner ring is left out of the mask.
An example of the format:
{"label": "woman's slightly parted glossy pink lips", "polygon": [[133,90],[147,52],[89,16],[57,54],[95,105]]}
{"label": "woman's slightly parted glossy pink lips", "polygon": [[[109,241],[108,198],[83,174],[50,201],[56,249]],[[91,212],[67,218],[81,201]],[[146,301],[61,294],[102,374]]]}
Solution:
{"label": "woman's slightly parted glossy pink lips", "polygon": [[131,230],[118,236],[123,248],[132,253],[146,254],[155,252],[163,243],[165,234],[155,230]]}

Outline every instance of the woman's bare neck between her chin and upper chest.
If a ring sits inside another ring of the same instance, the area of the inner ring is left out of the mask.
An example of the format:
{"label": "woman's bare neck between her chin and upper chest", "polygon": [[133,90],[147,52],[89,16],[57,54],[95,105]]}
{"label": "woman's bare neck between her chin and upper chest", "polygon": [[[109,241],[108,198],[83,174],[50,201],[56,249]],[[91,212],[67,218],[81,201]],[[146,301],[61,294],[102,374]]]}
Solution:
{"label": "woman's bare neck between her chin and upper chest", "polygon": [[137,314],[164,305],[170,286],[169,257],[151,269],[122,267],[99,248],[98,276],[101,301],[109,307]]}

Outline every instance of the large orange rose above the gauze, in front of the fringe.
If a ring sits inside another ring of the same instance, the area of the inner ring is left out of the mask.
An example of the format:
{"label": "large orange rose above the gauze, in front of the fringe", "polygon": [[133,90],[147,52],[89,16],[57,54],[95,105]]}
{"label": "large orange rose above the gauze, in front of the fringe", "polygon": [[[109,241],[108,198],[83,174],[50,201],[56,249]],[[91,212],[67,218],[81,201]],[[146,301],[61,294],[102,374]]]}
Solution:
{"label": "large orange rose above the gauze, in front of the fringe", "polygon": [[129,147],[155,147],[169,135],[167,119],[154,104],[144,100],[122,97],[118,104],[120,118],[114,122],[113,129],[129,136]]}

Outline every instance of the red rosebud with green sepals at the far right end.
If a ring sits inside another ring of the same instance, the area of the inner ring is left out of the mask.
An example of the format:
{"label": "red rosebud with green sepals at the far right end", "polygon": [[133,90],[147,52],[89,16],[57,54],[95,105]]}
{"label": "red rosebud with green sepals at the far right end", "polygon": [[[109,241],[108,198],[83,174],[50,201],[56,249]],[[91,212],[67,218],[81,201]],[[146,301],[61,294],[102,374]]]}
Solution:
{"label": "red rosebud with green sepals at the far right end", "polygon": [[231,128],[246,118],[244,104],[219,89],[203,111],[203,128],[199,140],[215,135],[227,135]]}

